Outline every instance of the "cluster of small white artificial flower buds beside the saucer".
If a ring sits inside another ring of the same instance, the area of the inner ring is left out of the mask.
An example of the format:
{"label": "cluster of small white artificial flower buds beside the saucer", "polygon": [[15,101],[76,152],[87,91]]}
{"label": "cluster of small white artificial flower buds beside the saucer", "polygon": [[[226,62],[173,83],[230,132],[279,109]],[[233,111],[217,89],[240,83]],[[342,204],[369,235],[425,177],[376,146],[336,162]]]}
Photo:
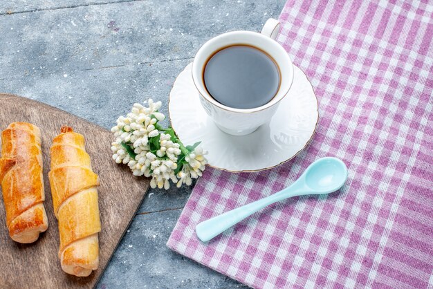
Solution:
{"label": "cluster of small white artificial flower buds beside the saucer", "polygon": [[[116,120],[116,126],[111,129],[116,136],[116,141],[111,144],[113,160],[127,164],[134,176],[151,177],[152,188],[169,189],[170,180],[177,187],[183,183],[191,185],[192,178],[201,176],[205,169],[206,152],[196,148],[187,153],[184,160],[178,160],[183,145],[175,136],[172,140],[172,133],[164,133],[167,130],[160,129],[157,124],[165,120],[165,115],[158,111],[161,102],[149,99],[145,104],[147,106],[133,104],[126,117],[120,116]],[[149,139],[154,138],[159,140],[159,149],[152,152]],[[185,148],[183,150],[185,152]],[[182,166],[181,171],[175,174],[178,164]]]}

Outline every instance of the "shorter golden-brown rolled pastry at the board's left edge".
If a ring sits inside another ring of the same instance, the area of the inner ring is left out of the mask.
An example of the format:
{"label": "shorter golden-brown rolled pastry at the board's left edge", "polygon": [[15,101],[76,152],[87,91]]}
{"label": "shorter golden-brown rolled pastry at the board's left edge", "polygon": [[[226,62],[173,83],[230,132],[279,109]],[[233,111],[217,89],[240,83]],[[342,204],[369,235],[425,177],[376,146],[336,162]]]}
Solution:
{"label": "shorter golden-brown rolled pastry at the board's left edge", "polygon": [[48,229],[42,176],[41,131],[14,122],[1,133],[0,183],[12,240],[33,243]]}

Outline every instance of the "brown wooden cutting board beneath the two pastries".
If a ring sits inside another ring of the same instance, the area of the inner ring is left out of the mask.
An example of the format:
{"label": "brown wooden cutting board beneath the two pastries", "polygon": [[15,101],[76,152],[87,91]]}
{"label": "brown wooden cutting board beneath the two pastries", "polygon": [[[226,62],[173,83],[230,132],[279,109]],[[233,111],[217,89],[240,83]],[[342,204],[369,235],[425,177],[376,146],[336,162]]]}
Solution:
{"label": "brown wooden cutting board beneath the two pastries", "polygon": [[[0,93],[0,131],[11,122],[30,122],[42,131],[44,205],[49,227],[33,244],[15,243],[6,228],[1,198],[0,288],[93,288],[145,196],[149,180],[134,177],[128,167],[113,161],[110,150],[113,135],[110,131],[75,115],[24,97]],[[74,131],[84,135],[93,171],[100,176],[100,265],[89,277],[79,278],[64,273],[57,256],[59,232],[48,182],[49,149],[63,125],[73,127]]]}

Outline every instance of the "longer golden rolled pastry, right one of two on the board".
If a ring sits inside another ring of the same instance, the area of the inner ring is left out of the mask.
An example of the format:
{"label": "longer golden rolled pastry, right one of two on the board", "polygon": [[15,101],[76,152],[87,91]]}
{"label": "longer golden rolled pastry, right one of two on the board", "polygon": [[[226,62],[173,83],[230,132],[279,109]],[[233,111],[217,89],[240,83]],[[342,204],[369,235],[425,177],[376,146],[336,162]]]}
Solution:
{"label": "longer golden rolled pastry, right one of two on the board", "polygon": [[92,171],[84,136],[71,127],[62,127],[50,154],[48,177],[59,223],[60,263],[64,272],[86,277],[99,264],[98,175]]}

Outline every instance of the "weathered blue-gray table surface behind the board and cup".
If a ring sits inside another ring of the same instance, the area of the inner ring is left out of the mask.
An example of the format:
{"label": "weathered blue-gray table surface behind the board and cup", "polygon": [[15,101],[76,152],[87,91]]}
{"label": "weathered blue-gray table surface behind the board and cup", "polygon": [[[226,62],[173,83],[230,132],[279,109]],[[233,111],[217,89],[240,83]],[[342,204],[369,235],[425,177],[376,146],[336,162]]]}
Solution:
{"label": "weathered blue-gray table surface behind the board and cup", "polygon": [[[134,102],[163,102],[208,39],[258,31],[284,0],[0,1],[0,92],[109,129]],[[1,109],[1,107],[0,107]],[[243,288],[165,245],[192,187],[151,189],[98,288]]]}

